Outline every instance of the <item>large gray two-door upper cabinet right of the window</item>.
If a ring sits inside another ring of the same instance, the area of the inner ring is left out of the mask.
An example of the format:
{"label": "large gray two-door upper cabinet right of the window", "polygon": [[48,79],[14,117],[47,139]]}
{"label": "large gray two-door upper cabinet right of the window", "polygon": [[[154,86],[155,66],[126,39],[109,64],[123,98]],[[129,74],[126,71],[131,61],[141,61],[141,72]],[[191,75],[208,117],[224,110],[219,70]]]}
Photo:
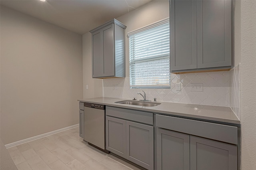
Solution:
{"label": "large gray two-door upper cabinet right of the window", "polygon": [[171,72],[232,68],[232,1],[171,0]]}

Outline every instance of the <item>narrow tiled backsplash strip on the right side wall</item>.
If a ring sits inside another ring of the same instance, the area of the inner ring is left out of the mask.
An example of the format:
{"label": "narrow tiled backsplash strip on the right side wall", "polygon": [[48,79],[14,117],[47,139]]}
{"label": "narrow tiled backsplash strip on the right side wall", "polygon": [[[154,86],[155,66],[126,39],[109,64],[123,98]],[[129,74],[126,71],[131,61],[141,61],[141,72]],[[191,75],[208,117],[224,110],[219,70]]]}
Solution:
{"label": "narrow tiled backsplash strip on the right side wall", "polygon": [[230,107],[240,120],[240,64],[230,70]]}

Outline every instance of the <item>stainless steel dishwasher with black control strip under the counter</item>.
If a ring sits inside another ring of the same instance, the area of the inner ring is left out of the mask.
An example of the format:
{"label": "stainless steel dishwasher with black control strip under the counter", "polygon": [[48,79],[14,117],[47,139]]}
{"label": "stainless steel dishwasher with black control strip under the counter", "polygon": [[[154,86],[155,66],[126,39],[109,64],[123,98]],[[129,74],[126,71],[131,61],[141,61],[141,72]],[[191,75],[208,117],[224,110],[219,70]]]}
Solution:
{"label": "stainless steel dishwasher with black control strip under the counter", "polygon": [[84,103],[84,140],[108,152],[106,150],[105,105]]}

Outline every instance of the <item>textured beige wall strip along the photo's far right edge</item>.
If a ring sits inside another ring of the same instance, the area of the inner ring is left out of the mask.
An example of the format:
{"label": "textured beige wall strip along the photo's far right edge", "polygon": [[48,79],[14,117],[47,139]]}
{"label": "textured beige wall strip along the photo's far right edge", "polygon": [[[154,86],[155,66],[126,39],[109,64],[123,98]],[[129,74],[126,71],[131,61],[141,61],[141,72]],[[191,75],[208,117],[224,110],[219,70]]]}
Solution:
{"label": "textured beige wall strip along the photo's far right edge", "polygon": [[256,1],[242,0],[240,101],[242,170],[256,168]]}

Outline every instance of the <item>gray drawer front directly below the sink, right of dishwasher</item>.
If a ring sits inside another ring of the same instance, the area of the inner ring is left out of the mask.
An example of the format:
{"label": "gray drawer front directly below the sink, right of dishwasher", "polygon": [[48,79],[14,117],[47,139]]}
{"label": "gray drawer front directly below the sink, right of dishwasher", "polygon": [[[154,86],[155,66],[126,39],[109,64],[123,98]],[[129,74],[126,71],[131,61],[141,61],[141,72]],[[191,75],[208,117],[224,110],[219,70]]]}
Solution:
{"label": "gray drawer front directly below the sink, right of dishwasher", "polygon": [[153,113],[106,106],[106,115],[153,125]]}

